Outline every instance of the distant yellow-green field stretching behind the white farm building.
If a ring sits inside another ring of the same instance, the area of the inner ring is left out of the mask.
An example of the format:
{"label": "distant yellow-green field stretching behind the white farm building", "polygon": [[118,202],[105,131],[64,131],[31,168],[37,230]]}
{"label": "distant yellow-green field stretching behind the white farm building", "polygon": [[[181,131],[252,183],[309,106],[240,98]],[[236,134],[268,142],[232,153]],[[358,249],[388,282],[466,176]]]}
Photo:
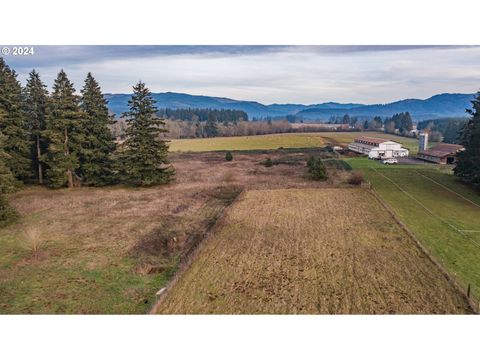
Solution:
{"label": "distant yellow-green field stretching behind the white farm building", "polygon": [[172,140],[171,151],[219,151],[219,150],[269,150],[283,148],[320,147],[326,144],[347,145],[358,136],[372,136],[401,142],[415,154],[416,139],[404,138],[381,132],[317,132],[256,136],[215,137],[208,139]]}

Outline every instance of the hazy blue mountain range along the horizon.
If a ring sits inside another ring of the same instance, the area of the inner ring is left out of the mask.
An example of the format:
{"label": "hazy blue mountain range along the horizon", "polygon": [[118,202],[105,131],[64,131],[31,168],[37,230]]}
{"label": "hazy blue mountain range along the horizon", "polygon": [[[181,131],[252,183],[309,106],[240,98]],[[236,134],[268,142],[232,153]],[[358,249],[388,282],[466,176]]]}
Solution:
{"label": "hazy blue mountain range along the horizon", "polygon": [[[108,106],[116,116],[128,110],[131,94],[106,94]],[[153,93],[158,108],[210,108],[243,110],[249,118],[284,117],[295,115],[306,121],[328,121],[331,116],[373,117],[392,116],[400,112],[410,112],[414,121],[444,117],[464,117],[465,109],[471,107],[474,94],[439,94],[428,99],[405,99],[387,104],[342,104],[326,102],[320,104],[270,104],[256,101],[242,101],[223,97],[190,95],[174,92]]]}

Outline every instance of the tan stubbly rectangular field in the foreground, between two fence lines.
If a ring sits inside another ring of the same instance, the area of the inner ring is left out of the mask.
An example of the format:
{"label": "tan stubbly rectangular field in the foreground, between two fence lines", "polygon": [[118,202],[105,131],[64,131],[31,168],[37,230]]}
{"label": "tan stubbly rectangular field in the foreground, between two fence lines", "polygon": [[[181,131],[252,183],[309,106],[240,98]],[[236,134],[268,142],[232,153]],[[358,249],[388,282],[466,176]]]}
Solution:
{"label": "tan stubbly rectangular field in the foreground, between two fence lines", "polygon": [[158,313],[465,313],[468,306],[364,189],[248,191]]}

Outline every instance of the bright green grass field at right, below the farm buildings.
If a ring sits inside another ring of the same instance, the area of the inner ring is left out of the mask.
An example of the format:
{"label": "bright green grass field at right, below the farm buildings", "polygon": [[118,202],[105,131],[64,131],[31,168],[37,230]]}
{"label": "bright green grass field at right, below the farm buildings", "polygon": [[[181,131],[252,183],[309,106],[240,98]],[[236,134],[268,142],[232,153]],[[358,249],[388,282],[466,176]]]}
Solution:
{"label": "bright green grass field at right, below the farm buildings", "polygon": [[[370,164],[378,164],[367,160]],[[437,166],[360,168],[427,249],[480,299],[480,194]]]}

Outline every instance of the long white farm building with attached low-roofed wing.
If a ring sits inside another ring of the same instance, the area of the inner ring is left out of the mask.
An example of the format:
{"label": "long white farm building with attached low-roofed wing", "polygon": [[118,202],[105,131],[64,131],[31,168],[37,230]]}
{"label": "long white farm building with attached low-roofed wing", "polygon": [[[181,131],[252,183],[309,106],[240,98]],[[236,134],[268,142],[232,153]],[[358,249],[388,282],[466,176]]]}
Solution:
{"label": "long white farm building with attached low-roofed wing", "polygon": [[348,149],[368,155],[371,159],[408,156],[408,149],[402,148],[400,143],[364,136],[356,138],[348,145]]}

